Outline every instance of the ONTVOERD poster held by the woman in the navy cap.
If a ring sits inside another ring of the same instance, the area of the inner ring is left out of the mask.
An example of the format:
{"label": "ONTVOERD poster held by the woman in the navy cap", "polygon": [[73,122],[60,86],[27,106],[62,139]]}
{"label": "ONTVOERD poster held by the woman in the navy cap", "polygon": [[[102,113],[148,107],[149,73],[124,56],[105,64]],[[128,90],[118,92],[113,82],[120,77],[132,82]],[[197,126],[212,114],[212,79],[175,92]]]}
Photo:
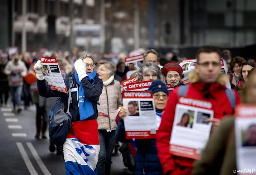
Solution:
{"label": "ONTVOERD poster held by the woman in the navy cap", "polygon": [[157,121],[151,91],[123,91],[123,105],[129,116],[124,117],[127,139],[155,138]]}

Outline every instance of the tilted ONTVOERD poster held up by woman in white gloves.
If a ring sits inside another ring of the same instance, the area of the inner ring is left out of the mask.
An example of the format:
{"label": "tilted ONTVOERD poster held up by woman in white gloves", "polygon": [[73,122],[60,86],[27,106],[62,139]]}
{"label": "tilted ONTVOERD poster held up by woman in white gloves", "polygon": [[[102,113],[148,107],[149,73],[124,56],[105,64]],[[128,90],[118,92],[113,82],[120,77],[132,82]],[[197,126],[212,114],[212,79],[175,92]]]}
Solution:
{"label": "tilted ONTVOERD poster held up by woman in white gloves", "polygon": [[68,93],[55,57],[41,57],[42,73],[52,90]]}

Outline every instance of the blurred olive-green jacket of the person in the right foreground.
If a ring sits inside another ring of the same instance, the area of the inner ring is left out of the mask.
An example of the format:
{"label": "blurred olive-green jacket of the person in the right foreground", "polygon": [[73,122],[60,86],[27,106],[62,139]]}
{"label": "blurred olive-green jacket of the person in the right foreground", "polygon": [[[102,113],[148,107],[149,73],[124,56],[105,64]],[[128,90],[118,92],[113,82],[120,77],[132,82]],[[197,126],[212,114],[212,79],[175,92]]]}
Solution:
{"label": "blurred olive-green jacket of the person in the right foreground", "polygon": [[236,175],[234,117],[223,119],[209,138],[202,159],[195,161],[193,175]]}

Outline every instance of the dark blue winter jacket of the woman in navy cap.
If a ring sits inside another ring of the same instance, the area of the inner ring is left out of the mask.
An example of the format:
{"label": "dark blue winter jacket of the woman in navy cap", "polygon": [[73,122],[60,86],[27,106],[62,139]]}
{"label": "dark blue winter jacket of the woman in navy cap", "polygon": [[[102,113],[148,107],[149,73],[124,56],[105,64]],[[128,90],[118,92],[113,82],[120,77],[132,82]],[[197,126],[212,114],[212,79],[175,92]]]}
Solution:
{"label": "dark blue winter jacket of the woman in navy cap", "polygon": [[[127,142],[124,121],[122,119],[118,122],[116,139],[120,142]],[[128,141],[131,142],[132,140]],[[156,139],[136,139],[132,145],[135,145],[137,148],[134,175],[163,175],[156,150]]]}

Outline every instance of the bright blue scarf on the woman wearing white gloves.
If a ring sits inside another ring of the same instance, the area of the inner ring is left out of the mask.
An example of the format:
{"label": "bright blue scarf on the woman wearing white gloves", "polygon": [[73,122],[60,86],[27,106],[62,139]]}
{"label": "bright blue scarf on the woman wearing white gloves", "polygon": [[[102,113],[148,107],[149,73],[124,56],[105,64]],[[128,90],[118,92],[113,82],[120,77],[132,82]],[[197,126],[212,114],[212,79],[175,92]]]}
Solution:
{"label": "bright blue scarf on the woman wearing white gloves", "polygon": [[[90,79],[92,85],[94,84],[94,77],[96,76],[96,71],[93,71],[91,74],[88,74],[88,79]],[[86,98],[82,83],[79,81],[78,74],[75,71],[75,78],[77,81],[77,84],[79,84],[78,89],[78,101],[79,101],[79,113],[80,113],[80,120],[83,121],[88,117],[91,117],[94,114],[94,110],[92,107],[92,102],[89,101],[88,98]]]}

